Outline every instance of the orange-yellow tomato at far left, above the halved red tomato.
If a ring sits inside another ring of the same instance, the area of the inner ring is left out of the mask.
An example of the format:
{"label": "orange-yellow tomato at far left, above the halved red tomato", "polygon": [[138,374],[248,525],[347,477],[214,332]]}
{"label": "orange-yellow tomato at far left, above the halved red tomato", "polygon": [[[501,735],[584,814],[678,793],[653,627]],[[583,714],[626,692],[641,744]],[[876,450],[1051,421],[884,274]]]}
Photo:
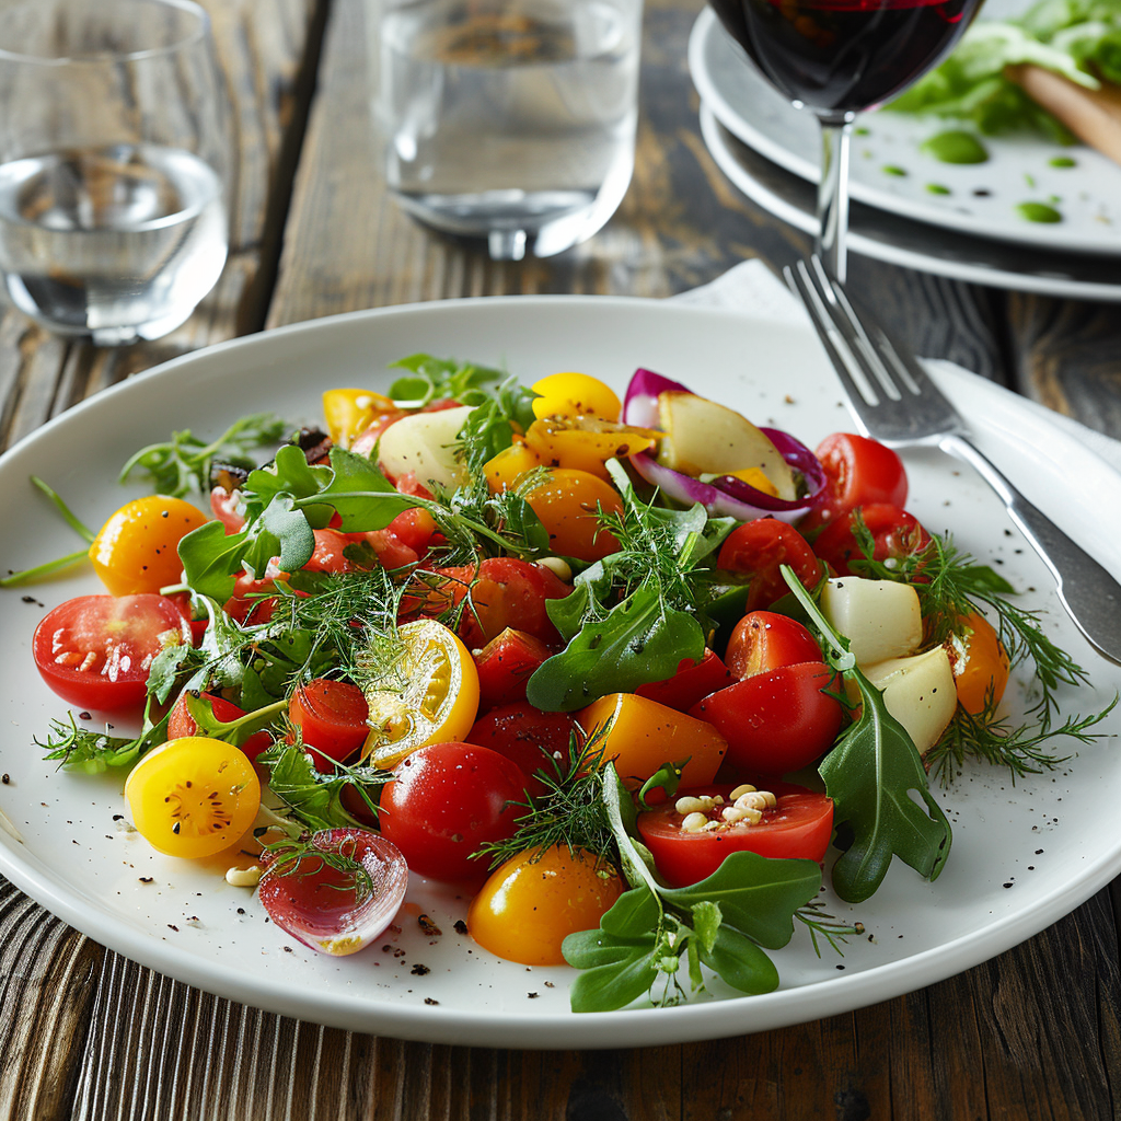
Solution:
{"label": "orange-yellow tomato at far left, above the halved red tomato", "polygon": [[183,563],[176,546],[204,521],[206,516],[180,498],[138,498],[101,527],[90,559],[113,595],[158,592],[179,582]]}

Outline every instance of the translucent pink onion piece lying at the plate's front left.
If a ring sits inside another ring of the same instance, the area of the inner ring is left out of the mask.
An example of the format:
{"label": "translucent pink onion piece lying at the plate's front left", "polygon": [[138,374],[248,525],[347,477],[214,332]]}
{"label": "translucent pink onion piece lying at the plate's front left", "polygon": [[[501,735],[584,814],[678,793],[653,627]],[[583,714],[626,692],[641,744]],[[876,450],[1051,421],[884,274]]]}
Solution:
{"label": "translucent pink onion piece lying at the plate's front left", "polygon": [[[314,852],[272,860],[258,895],[269,917],[297,942],[324,954],[353,954],[393,920],[405,899],[409,870],[405,858],[378,833],[358,828],[321,830],[311,844],[360,863],[372,891],[361,891],[352,873],[332,868]],[[298,863],[293,867],[293,861]]]}

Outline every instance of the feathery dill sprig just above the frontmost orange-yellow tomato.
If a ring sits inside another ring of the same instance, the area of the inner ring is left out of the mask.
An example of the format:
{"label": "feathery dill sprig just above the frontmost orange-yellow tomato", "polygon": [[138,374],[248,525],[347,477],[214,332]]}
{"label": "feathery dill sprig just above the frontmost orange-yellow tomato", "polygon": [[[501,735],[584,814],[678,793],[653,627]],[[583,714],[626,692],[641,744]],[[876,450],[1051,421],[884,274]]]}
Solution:
{"label": "feathery dill sprig just above the frontmost orange-yellow tomato", "polygon": [[545,793],[521,803],[526,813],[517,818],[512,837],[482,846],[481,859],[490,858],[490,868],[522,852],[544,852],[557,845],[571,852],[586,850],[597,861],[618,863],[611,819],[603,803],[603,743],[606,725],[595,728],[581,744],[575,735],[568,742],[567,766],[554,762],[537,771]]}

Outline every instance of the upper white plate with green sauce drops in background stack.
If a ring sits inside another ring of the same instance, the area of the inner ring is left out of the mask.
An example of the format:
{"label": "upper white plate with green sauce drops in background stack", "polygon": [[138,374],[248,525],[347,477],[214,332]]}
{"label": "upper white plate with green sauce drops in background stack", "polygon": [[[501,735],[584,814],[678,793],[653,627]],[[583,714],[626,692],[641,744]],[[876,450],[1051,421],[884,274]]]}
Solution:
{"label": "upper white plate with green sauce drops in background stack", "polygon": [[[817,122],[759,73],[711,8],[693,28],[689,73],[730,132],[788,172],[817,182]],[[975,131],[938,118],[861,114],[852,139],[852,197],[979,238],[1121,254],[1121,167],[1083,145],[1064,148],[1026,136],[983,137],[989,151],[983,164],[946,164],[921,150],[930,137],[957,128]],[[1073,164],[1055,166],[1056,158]],[[1030,222],[1017,209],[1021,203],[1050,205],[1062,221]]]}

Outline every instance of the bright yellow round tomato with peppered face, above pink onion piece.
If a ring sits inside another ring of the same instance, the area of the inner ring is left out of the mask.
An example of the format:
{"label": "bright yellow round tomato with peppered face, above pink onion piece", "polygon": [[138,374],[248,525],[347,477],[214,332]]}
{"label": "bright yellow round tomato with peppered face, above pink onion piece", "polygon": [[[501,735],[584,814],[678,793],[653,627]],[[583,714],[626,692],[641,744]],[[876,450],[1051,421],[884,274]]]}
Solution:
{"label": "bright yellow round tomato with peppered face, above pink onion piece", "polygon": [[213,856],[253,824],[261,785],[238,748],[202,735],[168,740],[124,784],[132,824],[168,856]]}

